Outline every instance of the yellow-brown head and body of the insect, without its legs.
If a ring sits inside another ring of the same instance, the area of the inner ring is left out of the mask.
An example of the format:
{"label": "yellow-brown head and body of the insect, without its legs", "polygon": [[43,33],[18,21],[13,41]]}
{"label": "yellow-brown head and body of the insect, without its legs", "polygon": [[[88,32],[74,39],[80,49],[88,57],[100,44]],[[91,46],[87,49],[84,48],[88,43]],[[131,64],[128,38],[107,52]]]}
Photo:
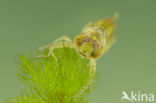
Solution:
{"label": "yellow-brown head and body of the insect, without its legs", "polygon": [[[114,30],[114,19],[106,18],[86,26],[83,29],[82,34],[75,37],[74,43],[80,54],[88,58],[97,59],[103,53],[108,51],[110,46],[113,44]],[[86,55],[86,52],[81,51],[81,46],[84,43],[88,43],[86,44],[88,46],[90,45],[90,49],[88,49],[88,51],[91,50],[89,51],[89,55]]]}

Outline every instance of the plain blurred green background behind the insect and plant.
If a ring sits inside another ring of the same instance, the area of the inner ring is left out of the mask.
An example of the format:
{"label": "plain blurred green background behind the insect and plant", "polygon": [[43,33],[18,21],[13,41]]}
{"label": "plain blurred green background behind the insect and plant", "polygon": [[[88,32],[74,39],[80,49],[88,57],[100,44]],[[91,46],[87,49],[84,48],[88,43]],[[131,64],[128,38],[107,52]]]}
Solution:
{"label": "plain blurred green background behind the insect and plant", "polygon": [[60,36],[74,38],[90,21],[114,12],[116,43],[97,61],[90,103],[121,103],[122,91],[156,95],[155,0],[0,0],[0,102],[22,90],[15,57]]}

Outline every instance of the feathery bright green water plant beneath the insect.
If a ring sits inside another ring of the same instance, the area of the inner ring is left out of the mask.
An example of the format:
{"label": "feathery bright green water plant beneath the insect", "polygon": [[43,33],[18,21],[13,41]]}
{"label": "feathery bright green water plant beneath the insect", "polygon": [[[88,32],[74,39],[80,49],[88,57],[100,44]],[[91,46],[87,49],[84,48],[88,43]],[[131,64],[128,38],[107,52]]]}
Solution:
{"label": "feathery bright green water plant beneath the insect", "polygon": [[76,95],[90,82],[89,60],[74,48],[58,48],[54,54],[57,61],[52,56],[36,58],[37,54],[18,57],[17,76],[25,90],[11,103],[88,103],[93,85]]}

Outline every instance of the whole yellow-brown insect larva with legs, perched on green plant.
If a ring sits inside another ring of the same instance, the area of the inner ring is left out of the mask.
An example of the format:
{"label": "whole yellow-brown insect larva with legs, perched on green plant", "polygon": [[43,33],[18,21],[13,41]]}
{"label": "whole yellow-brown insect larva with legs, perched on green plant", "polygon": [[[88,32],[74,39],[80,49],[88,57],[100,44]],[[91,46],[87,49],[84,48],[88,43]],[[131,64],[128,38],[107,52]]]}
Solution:
{"label": "whole yellow-brown insect larva with legs, perched on green plant", "polygon": [[[81,34],[74,38],[74,42],[70,38],[62,36],[51,44],[39,48],[39,50],[48,48],[49,53],[48,55],[37,57],[49,57],[52,55],[57,60],[53,53],[54,49],[62,47],[75,48],[82,57],[90,60],[90,79],[92,80],[96,71],[96,60],[105,54],[115,41],[114,31],[117,17],[118,14],[116,13],[112,18],[107,17],[88,24]],[[86,87],[91,85],[91,80]]]}

